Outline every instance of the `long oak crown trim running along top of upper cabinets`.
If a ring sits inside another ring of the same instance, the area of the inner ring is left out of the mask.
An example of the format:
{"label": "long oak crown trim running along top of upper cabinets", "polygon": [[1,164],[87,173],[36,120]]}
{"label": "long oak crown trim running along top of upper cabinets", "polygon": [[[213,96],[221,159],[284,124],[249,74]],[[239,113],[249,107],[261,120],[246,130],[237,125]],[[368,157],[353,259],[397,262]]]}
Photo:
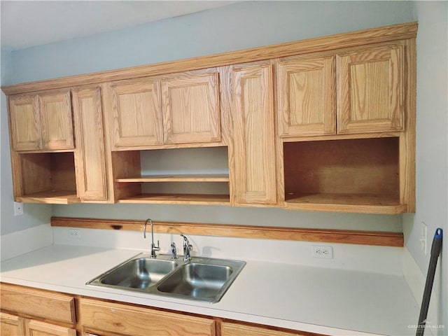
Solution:
{"label": "long oak crown trim running along top of upper cabinets", "polygon": [[370,43],[383,43],[405,38],[415,38],[417,23],[409,22],[400,25],[391,25],[349,33],[335,34],[302,41],[268,45],[234,52],[225,52],[205,57],[193,57],[174,62],[162,62],[152,65],[135,66],[127,69],[102,71],[85,75],[69,76],[37,82],[22,83],[1,87],[5,94],[18,94],[37,90],[54,89],[77,85],[90,85],[113,80],[155,76],[165,73],[191,71],[213,66],[225,66],[244,62],[255,62],[275,57],[303,55],[323,50],[355,47]]}

